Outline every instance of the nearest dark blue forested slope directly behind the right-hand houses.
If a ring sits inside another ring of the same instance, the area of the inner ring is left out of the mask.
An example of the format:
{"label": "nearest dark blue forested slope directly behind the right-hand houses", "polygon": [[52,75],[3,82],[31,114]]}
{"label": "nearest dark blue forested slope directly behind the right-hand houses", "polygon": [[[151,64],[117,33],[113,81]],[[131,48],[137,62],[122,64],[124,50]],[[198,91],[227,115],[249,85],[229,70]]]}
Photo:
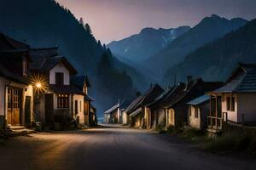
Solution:
{"label": "nearest dark blue forested slope directly behind the right-hand houses", "polygon": [[166,82],[191,75],[207,81],[225,81],[238,63],[256,64],[256,20],[196,49],[166,73]]}

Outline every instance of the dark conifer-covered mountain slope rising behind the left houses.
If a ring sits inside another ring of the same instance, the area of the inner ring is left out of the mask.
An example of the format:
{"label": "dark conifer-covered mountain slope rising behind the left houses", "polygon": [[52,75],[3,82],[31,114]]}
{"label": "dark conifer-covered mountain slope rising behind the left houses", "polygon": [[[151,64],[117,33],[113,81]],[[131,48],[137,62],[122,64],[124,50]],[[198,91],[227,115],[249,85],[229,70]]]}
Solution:
{"label": "dark conifer-covered mountain slope rising behind the left houses", "polygon": [[[0,32],[13,37],[21,42],[30,44],[32,48],[48,48],[58,46],[59,54],[64,55],[79,71],[81,75],[89,75],[92,83],[91,95],[96,99],[94,105],[98,113],[102,113],[109,106],[116,102],[116,96],[111,93],[121,91],[117,84],[114,84],[101,94],[99,89],[107,86],[107,82],[97,84],[96,70],[107,49],[102,48],[101,42],[97,42],[93,36],[90,26],[77,20],[67,9],[61,7],[52,0],[0,0]],[[137,87],[134,84],[143,83],[143,77],[134,68],[126,66],[118,59],[110,57],[113,63],[113,73],[108,79],[118,82],[125,80],[129,82],[127,87],[132,89],[123,91],[124,94],[136,94]],[[119,67],[122,65],[122,68]],[[125,71],[125,74],[123,72]],[[133,78],[129,75],[135,77]],[[130,82],[131,78],[131,82]],[[108,93],[107,93],[108,92]],[[108,96],[104,101],[102,96]],[[113,97],[112,97],[113,96]]]}

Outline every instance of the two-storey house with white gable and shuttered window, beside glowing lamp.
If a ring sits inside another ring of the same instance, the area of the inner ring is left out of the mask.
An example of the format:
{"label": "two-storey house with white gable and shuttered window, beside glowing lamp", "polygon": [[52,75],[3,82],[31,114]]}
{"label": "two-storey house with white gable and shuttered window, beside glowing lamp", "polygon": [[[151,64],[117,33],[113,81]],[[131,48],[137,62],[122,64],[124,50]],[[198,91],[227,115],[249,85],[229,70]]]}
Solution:
{"label": "two-storey house with white gable and shuttered window, beside glowing lamp", "polygon": [[30,70],[36,77],[42,77],[40,88],[44,93],[35,94],[35,114],[44,125],[52,125],[63,119],[74,118],[84,122],[84,89],[71,83],[76,69],[63,56],[58,56],[57,48],[32,49]]}

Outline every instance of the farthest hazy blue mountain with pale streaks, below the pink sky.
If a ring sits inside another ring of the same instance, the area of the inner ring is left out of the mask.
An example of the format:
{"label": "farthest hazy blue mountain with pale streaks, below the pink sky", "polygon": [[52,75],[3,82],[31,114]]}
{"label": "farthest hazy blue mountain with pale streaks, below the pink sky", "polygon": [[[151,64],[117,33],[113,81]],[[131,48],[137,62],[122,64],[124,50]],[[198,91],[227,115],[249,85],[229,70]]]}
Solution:
{"label": "farthest hazy blue mountain with pale streaks, below the pink sky", "polygon": [[107,47],[124,62],[142,63],[189,29],[189,26],[171,29],[144,28],[139,34],[120,41],[110,42]]}

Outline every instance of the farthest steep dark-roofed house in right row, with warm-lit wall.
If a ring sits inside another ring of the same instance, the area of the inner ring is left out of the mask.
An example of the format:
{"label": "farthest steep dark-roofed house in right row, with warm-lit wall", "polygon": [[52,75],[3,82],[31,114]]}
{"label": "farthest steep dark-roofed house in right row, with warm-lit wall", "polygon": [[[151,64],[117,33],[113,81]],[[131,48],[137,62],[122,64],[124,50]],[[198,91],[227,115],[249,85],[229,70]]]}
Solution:
{"label": "farthest steep dark-roofed house in right row, with warm-lit wall", "polygon": [[158,84],[155,84],[127,107],[125,114],[131,119],[131,126],[148,128],[151,115],[148,114],[147,105],[152,103],[163,91]]}

